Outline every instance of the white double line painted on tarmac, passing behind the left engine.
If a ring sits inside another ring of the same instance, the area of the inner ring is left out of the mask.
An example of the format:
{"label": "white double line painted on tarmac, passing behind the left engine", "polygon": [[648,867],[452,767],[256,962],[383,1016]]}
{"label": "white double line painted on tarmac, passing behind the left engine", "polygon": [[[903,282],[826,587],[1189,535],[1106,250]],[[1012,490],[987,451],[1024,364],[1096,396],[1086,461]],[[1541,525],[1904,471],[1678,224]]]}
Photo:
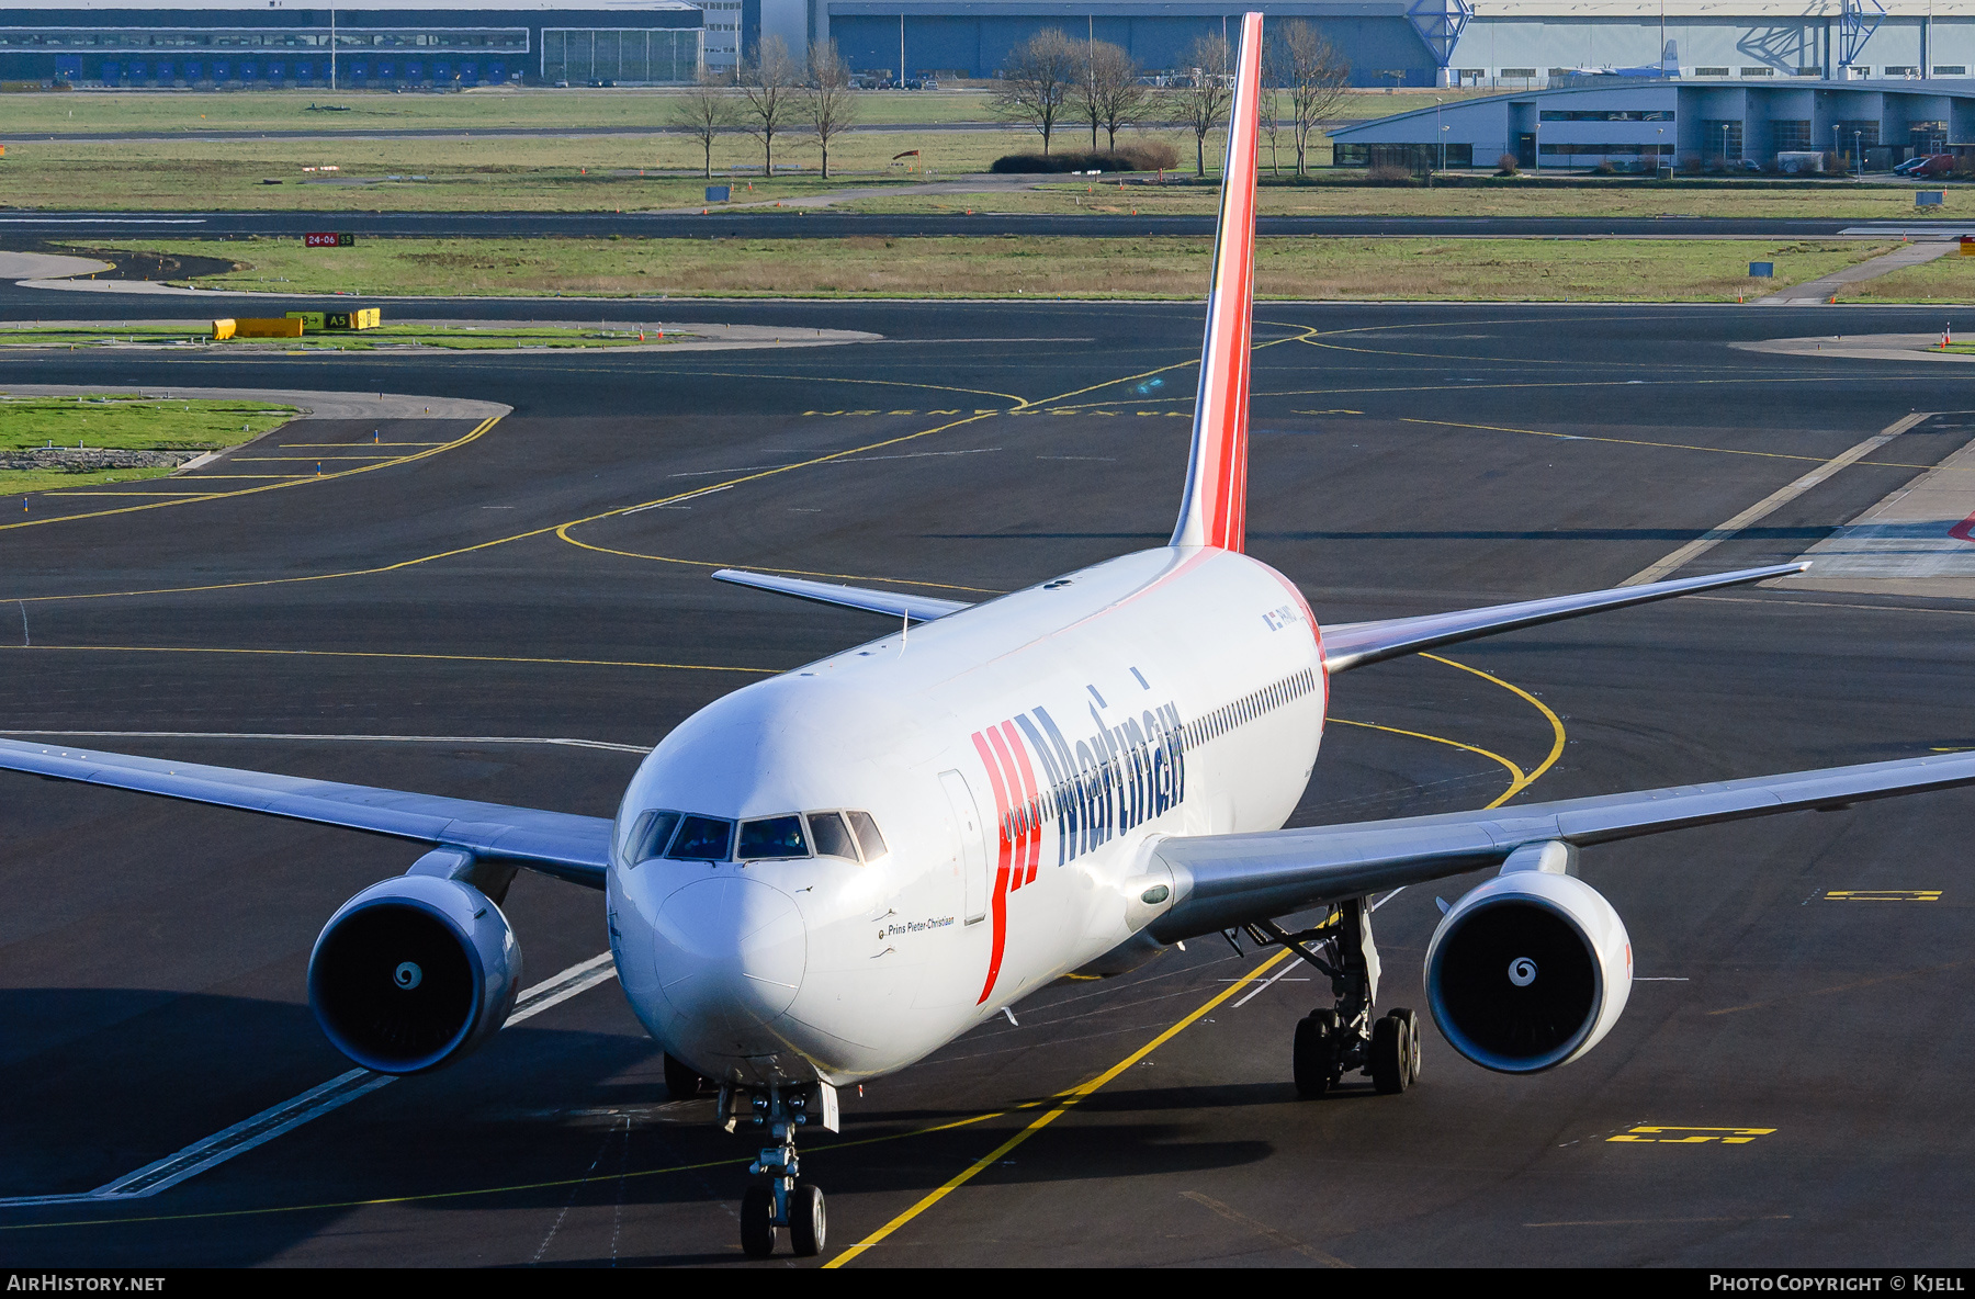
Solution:
{"label": "white double line painted on tarmac, passing behind the left engine", "polygon": [[[332,736],[300,736],[300,738],[332,738]],[[340,738],[340,736],[336,736]],[[521,991],[515,997],[514,1013],[508,1015],[508,1023],[502,1029],[514,1029],[525,1019],[533,1019],[551,1007],[559,1007],[577,993],[585,993],[606,979],[616,977],[616,965],[610,963],[610,954],[600,952],[587,961],[577,961],[569,969],[561,971],[551,979]],[[166,1155],[154,1163],[144,1165],[134,1173],[126,1173],[117,1181],[105,1183],[95,1190],[83,1190],[73,1194],[24,1194],[12,1198],[0,1198],[0,1208],[28,1208],[34,1204],[89,1204],[103,1200],[136,1200],[144,1196],[168,1190],[207,1169],[219,1167],[235,1155],[245,1155],[257,1145],[267,1145],[275,1137],[294,1131],[302,1123],[320,1119],[332,1109],[340,1109],[359,1096],[369,1096],[379,1088],[387,1088],[397,1082],[397,1074],[379,1074],[367,1068],[354,1068],[346,1074],[330,1078],[318,1088],[310,1088],[300,1096],[271,1106],[261,1113],[241,1119],[233,1127],[213,1133],[201,1141],[194,1141],[186,1149]]]}

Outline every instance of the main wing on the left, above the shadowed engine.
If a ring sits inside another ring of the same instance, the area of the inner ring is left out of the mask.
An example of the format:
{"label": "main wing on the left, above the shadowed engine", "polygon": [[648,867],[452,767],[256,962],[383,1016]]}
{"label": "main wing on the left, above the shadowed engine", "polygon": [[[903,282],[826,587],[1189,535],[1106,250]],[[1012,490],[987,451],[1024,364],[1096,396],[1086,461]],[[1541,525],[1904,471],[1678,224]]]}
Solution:
{"label": "main wing on the left, above the shadowed engine", "polygon": [[0,770],[466,849],[591,888],[604,886],[608,869],[604,817],[20,740],[0,740]]}

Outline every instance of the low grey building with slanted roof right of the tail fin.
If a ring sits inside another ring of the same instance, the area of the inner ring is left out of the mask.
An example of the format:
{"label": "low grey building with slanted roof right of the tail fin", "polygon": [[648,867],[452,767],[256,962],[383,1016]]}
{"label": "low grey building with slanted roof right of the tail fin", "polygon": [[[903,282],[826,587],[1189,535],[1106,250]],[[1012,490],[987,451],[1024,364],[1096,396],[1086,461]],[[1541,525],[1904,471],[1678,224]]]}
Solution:
{"label": "low grey building with slanted roof right of the tail fin", "polygon": [[1770,166],[1778,154],[1831,152],[1847,166],[1862,156],[1868,170],[1884,170],[1914,154],[1961,152],[1955,142],[1975,140],[1975,83],[1586,81],[1592,85],[1456,99],[1333,126],[1333,162],[1467,168],[1513,156],[1535,170],[1606,162],[1653,170],[1724,158]]}

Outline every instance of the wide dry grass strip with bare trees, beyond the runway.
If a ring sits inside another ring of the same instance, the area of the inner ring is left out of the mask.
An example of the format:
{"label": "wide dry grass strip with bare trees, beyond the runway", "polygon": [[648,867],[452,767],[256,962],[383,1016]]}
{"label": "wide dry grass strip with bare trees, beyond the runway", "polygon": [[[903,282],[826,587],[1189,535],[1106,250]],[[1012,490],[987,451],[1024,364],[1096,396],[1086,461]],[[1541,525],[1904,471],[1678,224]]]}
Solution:
{"label": "wide dry grass strip with bare trees, beyond the runway", "polygon": [[[12,99],[0,97],[0,109]],[[61,97],[55,97],[61,99]],[[452,97],[460,99],[460,97]],[[1084,142],[1059,136],[1065,146]],[[1128,132],[1122,142],[1167,142],[1191,160],[1185,132]],[[928,193],[922,180],[984,172],[997,156],[1033,150],[1025,130],[883,130],[841,136],[831,180],[818,174],[814,138],[776,142],[776,176],[760,178],[760,146],[745,134],[713,150],[715,180],[741,186],[737,201],[869,191],[853,211],[1102,211],[1130,215],[1209,213],[1219,178],[1219,140],[1209,140],[1209,180],[1189,166],[1165,186],[1047,180],[1049,188]],[[918,150],[918,158],[895,162]],[[1327,154],[1319,152],[1319,158]],[[1851,182],[1635,182],[1602,178],[1485,180],[1460,186],[1369,186],[1357,172],[1319,168],[1311,182],[1268,170],[1266,215],[1580,215],[1580,217],[1835,217],[1912,219],[1914,188]],[[336,166],[338,172],[302,168]],[[788,172],[796,166],[800,172]],[[30,140],[0,158],[0,205],[85,211],[650,211],[705,201],[701,150],[675,134],[591,138],[395,138],[395,140]],[[1037,178],[1039,182],[1045,178]],[[280,182],[280,184],[267,184]],[[747,186],[752,186],[749,190]],[[1086,191],[1086,186],[1090,191]],[[1975,209],[1975,190],[1949,188],[1945,213]]]}

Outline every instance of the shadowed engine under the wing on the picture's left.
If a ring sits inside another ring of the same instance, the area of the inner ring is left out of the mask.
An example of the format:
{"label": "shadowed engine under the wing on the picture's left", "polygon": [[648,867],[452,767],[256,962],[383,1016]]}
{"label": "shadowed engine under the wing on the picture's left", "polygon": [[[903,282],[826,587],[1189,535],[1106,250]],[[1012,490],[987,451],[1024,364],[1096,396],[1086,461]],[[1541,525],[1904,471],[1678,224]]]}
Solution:
{"label": "shadowed engine under the wing on the picture's left", "polygon": [[308,1005],[346,1056],[417,1074],[500,1032],[521,985],[514,930],[484,892],[401,875],[330,916],[308,957]]}

